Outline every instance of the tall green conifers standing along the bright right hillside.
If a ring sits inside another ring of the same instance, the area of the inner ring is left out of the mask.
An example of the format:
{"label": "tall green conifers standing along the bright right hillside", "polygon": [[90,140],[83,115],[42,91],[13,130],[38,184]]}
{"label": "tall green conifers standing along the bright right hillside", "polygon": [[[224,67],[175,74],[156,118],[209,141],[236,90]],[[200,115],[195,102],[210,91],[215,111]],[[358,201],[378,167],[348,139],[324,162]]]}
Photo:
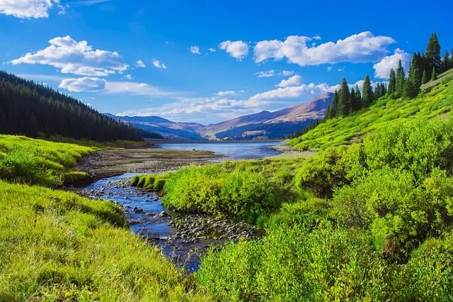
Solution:
{"label": "tall green conifers standing along the bright right hillside", "polygon": [[437,79],[437,74],[453,68],[453,50],[452,55],[446,50],[444,57],[441,57],[440,49],[437,34],[432,33],[426,47],[426,53],[413,53],[407,77],[403,64],[399,60],[396,70],[390,70],[388,84],[377,83],[374,85],[374,89],[368,74],[365,75],[362,92],[357,85],[355,89],[349,89],[348,82],[343,78],[340,89],[335,91],[325,119],[347,116],[352,111],[370,106],[374,100],[382,96],[389,96],[392,99],[415,98],[415,96],[418,96],[422,84],[426,84],[429,79]]}

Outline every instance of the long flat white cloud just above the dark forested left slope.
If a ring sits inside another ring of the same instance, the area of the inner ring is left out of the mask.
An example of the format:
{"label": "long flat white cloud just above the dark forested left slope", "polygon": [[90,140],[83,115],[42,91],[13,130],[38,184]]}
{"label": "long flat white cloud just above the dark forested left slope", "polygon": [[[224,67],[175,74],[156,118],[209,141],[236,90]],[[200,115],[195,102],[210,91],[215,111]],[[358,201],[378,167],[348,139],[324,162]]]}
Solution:
{"label": "long flat white cloud just above the dark forested left slope", "polygon": [[72,92],[103,92],[106,94],[130,94],[142,96],[176,96],[171,91],[161,91],[155,86],[138,82],[108,82],[98,77],[64,79],[59,88]]}

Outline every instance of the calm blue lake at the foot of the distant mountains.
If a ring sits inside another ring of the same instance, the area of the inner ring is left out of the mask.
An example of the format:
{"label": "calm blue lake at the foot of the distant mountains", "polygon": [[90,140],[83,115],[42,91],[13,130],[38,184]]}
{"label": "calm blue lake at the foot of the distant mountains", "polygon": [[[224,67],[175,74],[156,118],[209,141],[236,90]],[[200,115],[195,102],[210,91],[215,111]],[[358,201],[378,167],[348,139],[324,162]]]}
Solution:
{"label": "calm blue lake at the foot of the distant mountains", "polygon": [[282,142],[195,142],[160,145],[163,149],[209,150],[216,155],[224,155],[220,160],[251,160],[278,155],[281,152],[272,146]]}

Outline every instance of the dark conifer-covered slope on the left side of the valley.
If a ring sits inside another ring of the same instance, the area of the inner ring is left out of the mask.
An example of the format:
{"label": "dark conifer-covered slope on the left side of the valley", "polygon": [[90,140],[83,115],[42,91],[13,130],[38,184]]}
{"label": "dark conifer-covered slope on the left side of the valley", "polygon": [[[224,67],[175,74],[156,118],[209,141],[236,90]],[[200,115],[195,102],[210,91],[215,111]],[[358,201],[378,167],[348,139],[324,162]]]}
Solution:
{"label": "dark conifer-covered slope on the left side of the valley", "polygon": [[0,133],[96,141],[161,138],[104,116],[50,87],[4,71],[0,71]]}

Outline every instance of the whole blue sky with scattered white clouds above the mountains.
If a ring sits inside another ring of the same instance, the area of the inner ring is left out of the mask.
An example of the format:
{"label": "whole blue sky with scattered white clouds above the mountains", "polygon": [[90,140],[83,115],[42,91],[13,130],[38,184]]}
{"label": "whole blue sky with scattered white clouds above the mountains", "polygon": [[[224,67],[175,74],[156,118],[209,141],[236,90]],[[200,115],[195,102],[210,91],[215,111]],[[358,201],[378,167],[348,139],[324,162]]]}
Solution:
{"label": "whole blue sky with scattered white clouds above the mountains", "polygon": [[343,77],[385,82],[433,31],[443,55],[445,4],[0,0],[0,69],[103,113],[217,123],[296,106]]}

